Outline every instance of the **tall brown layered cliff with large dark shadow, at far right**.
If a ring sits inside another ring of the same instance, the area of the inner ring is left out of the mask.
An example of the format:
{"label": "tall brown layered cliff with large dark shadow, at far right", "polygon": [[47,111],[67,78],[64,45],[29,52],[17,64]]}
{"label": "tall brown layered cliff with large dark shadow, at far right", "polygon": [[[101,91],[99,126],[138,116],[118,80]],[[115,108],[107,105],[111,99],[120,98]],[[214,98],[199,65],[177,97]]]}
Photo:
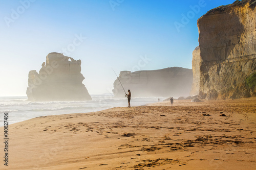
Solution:
{"label": "tall brown layered cliff with large dark shadow, at far right", "polygon": [[245,79],[256,70],[256,1],[236,1],[198,20],[201,99],[253,95]]}

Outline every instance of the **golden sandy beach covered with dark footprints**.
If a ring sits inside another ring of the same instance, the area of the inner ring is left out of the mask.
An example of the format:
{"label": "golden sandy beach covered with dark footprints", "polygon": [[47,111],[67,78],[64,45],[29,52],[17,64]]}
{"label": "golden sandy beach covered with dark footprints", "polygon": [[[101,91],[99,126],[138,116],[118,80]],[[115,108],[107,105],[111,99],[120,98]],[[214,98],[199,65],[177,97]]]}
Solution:
{"label": "golden sandy beach covered with dark footprints", "polygon": [[175,100],[33,118],[9,126],[0,169],[255,169],[255,103]]}

